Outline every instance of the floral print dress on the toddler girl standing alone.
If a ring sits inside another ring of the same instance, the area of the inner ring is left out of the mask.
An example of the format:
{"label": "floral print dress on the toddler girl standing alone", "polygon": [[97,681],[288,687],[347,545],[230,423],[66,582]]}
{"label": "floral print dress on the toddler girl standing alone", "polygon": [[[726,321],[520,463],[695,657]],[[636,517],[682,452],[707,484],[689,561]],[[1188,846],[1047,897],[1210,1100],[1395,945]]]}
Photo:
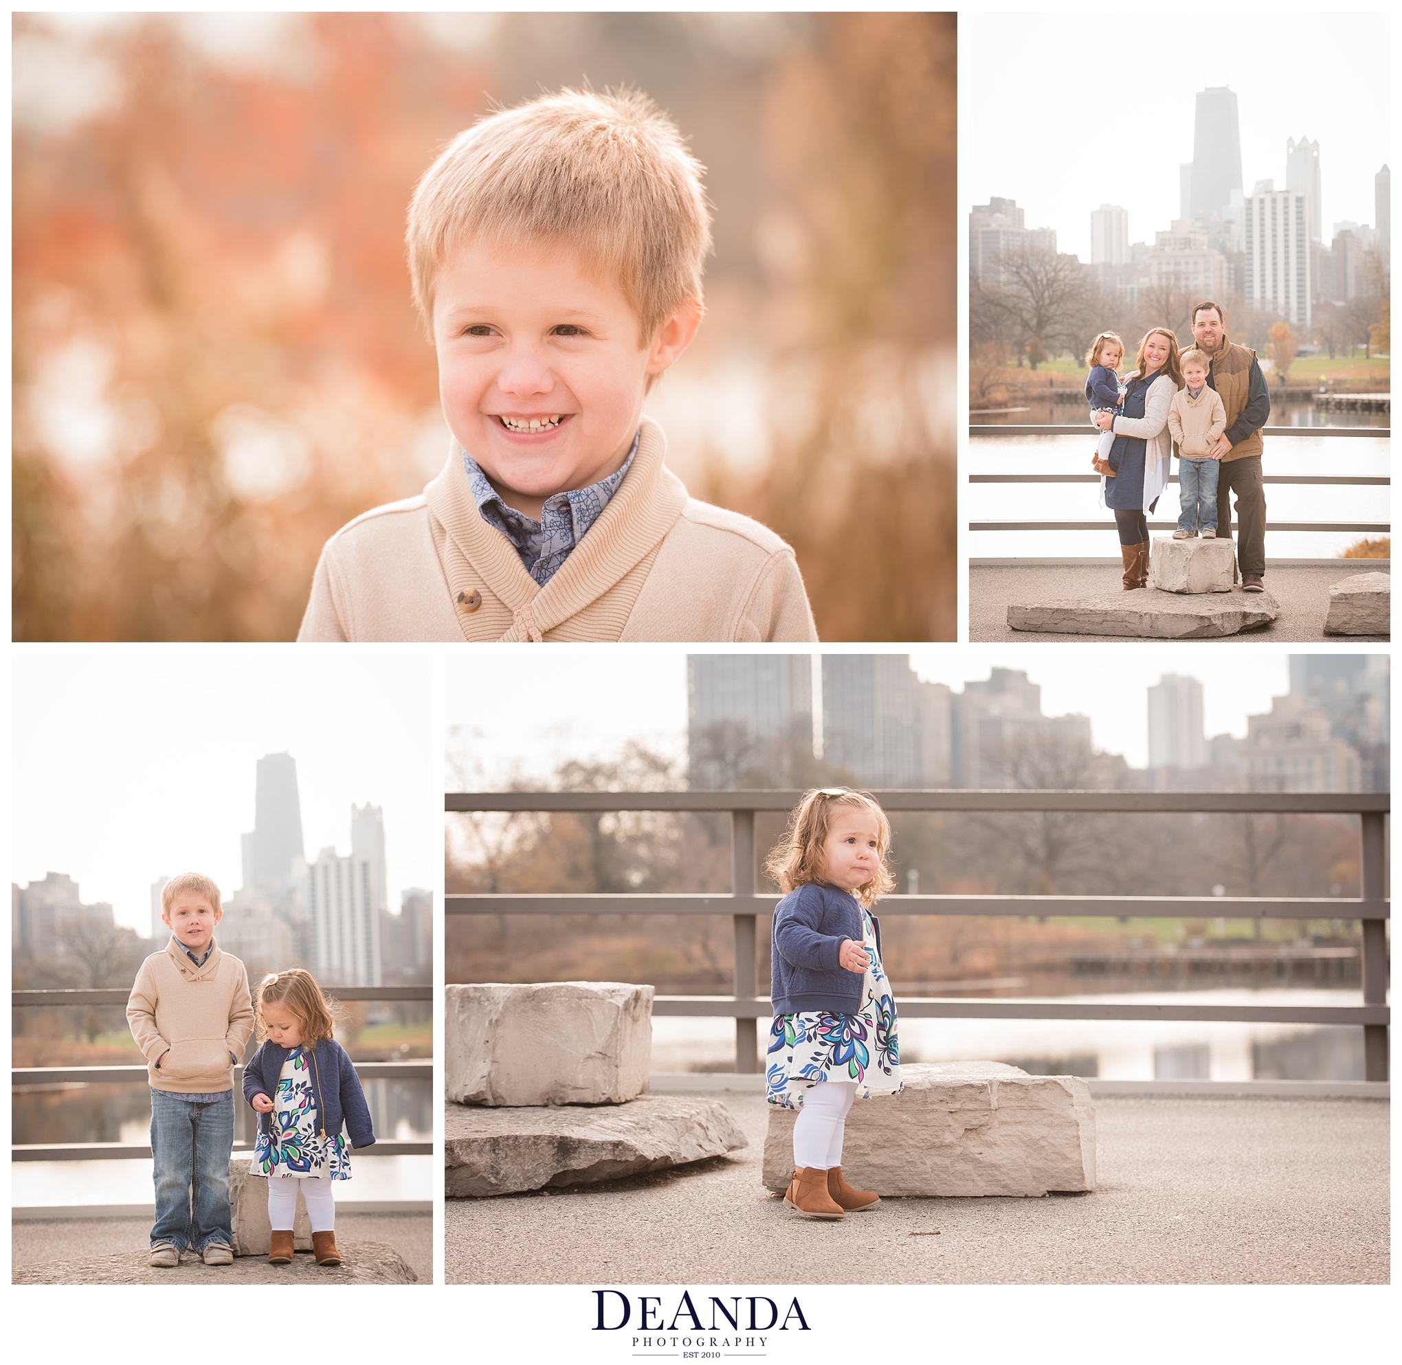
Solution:
{"label": "floral print dress on the toddler girl standing alone", "polygon": [[862,945],[872,964],[862,978],[862,1006],[855,1015],[812,1009],[775,1016],[765,1068],[765,1099],[771,1104],[802,1109],[808,1088],[823,1081],[855,1081],[859,1100],[901,1089],[896,1001],[865,905]]}

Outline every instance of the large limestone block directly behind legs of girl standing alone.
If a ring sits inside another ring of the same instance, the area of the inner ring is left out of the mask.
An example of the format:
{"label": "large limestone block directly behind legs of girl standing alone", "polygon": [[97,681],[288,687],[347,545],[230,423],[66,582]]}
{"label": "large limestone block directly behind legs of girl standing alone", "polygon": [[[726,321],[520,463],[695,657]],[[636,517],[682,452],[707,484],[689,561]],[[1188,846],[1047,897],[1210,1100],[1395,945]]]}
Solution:
{"label": "large limestone block directly behind legs of girl standing alone", "polygon": [[[1001,1062],[900,1068],[900,1095],[858,1100],[843,1169],[878,1194],[1043,1195],[1095,1188],[1095,1110],[1077,1076],[1029,1076]],[[792,1110],[771,1107],[764,1184],[794,1170]]]}

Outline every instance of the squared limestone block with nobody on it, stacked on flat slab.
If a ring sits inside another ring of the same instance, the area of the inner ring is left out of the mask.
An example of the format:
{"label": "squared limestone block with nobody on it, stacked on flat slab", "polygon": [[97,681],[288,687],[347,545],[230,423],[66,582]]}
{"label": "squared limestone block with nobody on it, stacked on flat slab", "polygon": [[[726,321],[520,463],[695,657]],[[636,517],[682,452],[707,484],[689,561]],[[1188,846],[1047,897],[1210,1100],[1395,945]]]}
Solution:
{"label": "squared limestone block with nobody on it, stacked on flat slab", "polygon": [[648,1089],[652,987],[450,985],[443,1061],[460,1104],[622,1104]]}

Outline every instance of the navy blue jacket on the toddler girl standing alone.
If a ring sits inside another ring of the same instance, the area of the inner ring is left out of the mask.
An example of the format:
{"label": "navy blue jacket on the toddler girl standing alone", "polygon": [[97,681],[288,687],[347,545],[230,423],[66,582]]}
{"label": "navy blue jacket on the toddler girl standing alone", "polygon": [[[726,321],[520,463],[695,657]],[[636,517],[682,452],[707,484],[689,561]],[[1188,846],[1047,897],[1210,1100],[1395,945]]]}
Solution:
{"label": "navy blue jacket on the toddler girl standing alone", "polygon": [[[880,925],[875,915],[872,924],[879,954]],[[808,1009],[855,1015],[862,1008],[862,974],[837,964],[843,939],[862,942],[861,905],[847,891],[809,882],[774,907],[770,1002],[775,1015]]]}

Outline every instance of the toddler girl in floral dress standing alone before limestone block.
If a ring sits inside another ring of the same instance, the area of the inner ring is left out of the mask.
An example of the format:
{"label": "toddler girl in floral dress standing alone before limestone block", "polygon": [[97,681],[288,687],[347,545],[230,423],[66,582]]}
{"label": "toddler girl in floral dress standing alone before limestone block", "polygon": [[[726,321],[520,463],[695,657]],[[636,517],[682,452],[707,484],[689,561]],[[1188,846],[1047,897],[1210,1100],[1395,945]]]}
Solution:
{"label": "toddler girl in floral dress standing alone before limestone block", "polygon": [[890,824],[864,792],[808,792],[770,853],[787,894],[774,908],[774,1026],[767,1099],[796,1109],[784,1202],[841,1218],[880,1198],[843,1180],[843,1127],[855,1099],[900,1090],[896,1002],[880,964],[873,901],[894,882]]}

